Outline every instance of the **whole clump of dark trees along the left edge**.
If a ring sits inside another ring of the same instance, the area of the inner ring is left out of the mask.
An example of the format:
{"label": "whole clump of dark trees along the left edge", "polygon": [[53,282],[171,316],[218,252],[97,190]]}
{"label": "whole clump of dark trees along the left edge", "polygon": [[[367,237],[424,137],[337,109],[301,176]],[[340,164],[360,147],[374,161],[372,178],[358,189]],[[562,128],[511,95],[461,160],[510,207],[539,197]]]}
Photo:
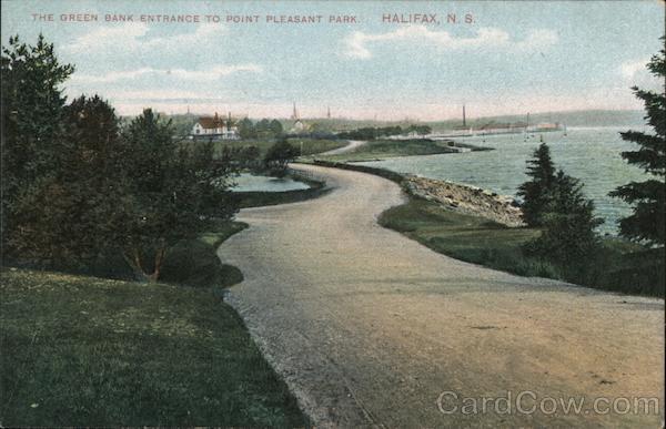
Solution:
{"label": "whole clump of dark trees along the left edge", "polygon": [[155,280],[168,249],[233,214],[229,159],[212,144],[173,142],[151,110],[120,132],[99,96],[64,105],[72,72],[42,37],[10,39],[2,54],[2,249],[13,261],[85,266],[122,249],[141,278]]}

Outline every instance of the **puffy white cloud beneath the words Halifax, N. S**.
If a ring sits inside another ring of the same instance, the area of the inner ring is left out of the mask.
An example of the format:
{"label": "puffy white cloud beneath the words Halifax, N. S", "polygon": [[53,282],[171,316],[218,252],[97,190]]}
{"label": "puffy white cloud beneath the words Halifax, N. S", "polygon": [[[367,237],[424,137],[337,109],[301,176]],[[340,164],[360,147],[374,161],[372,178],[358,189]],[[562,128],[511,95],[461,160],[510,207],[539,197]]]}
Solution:
{"label": "puffy white cloud beneath the words Halifax, N. S", "polygon": [[369,44],[398,41],[430,44],[450,50],[491,48],[532,51],[556,43],[557,33],[546,29],[533,30],[525,39],[515,41],[511,39],[506,31],[496,28],[481,28],[474,37],[457,38],[451,35],[447,31],[433,31],[425,25],[413,25],[403,27],[389,33],[372,34],[355,31],[344,39],[345,50],[343,53],[351,58],[369,59],[372,57]]}

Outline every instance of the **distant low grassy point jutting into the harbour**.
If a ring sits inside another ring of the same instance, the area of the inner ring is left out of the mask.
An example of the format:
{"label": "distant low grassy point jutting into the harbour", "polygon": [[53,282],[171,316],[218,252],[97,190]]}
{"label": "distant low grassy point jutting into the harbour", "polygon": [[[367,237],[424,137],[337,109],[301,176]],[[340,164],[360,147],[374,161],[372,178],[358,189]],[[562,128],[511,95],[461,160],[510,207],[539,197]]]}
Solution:
{"label": "distant low grassy point jutting into the harbour", "polygon": [[[317,156],[317,159],[334,162],[357,162],[384,160],[396,156],[435,155],[455,152],[455,150],[451,147],[452,144],[453,143],[445,141],[432,141],[423,139],[374,140],[356,147],[352,152],[339,155]],[[461,144],[456,145],[462,146]],[[473,150],[486,150],[470,145],[465,145],[465,147],[471,147]]]}

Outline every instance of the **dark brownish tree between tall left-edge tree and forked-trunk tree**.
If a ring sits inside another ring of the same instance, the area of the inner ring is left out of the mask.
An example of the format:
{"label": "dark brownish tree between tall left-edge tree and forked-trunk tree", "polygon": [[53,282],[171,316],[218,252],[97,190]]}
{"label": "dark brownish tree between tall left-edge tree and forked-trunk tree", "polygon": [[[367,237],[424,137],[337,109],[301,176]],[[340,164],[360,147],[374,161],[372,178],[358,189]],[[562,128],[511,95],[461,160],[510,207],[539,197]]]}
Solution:
{"label": "dark brownish tree between tall left-edge tree and forked-trunk tree", "polygon": [[58,165],[22,193],[12,245],[30,261],[82,265],[97,257],[122,219],[123,150],[118,118],[99,96],[63,109]]}

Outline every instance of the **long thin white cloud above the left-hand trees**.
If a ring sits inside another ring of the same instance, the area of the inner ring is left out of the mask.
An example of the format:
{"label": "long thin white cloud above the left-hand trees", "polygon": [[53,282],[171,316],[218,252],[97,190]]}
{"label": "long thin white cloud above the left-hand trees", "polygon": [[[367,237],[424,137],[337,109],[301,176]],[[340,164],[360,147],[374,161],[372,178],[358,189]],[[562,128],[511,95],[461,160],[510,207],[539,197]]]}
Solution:
{"label": "long thin white cloud above the left-hand trees", "polygon": [[137,70],[111,71],[105,74],[74,73],[72,75],[72,82],[75,84],[112,83],[119,81],[131,81],[143,76],[161,76],[174,78],[184,81],[211,82],[238,72],[261,73],[262,68],[258,64],[213,65],[205,70],[141,68]]}

